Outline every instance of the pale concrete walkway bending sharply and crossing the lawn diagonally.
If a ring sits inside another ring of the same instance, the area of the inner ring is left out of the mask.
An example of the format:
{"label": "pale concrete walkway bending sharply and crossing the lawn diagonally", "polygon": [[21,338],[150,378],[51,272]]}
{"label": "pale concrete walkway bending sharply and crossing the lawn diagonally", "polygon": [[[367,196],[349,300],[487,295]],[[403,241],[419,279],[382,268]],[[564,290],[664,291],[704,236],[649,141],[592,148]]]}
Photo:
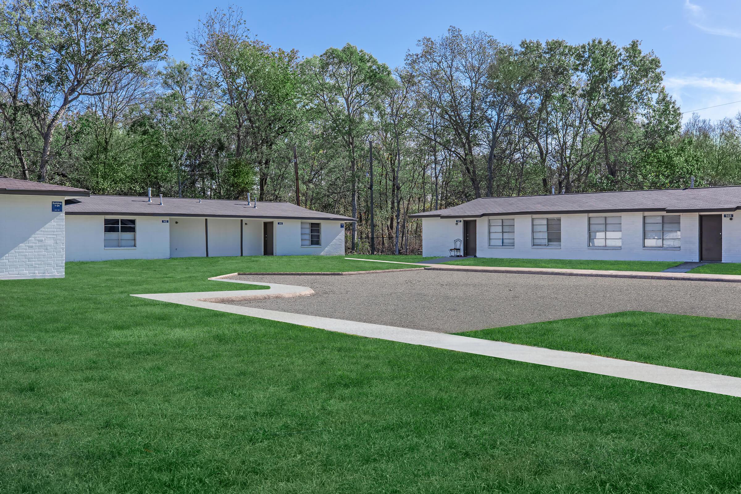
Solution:
{"label": "pale concrete walkway bending sharply and crossing the lawn diagonally", "polygon": [[[233,275],[225,275],[233,276]],[[343,319],[305,316],[279,312],[276,310],[256,309],[227,305],[217,301],[257,300],[260,298],[285,298],[292,296],[310,296],[309,287],[287,284],[260,283],[234,279],[220,279],[222,276],[209,278],[215,281],[230,283],[257,284],[269,287],[268,290],[229,290],[222,292],[190,293],[149,293],[136,294],[135,297],[150,298],[173,304],[202,307],[220,312],[241,314],[256,318],[282,321],[290,324],[316,327],[338,333],[346,333],[366,338],[380,338],[400,343],[418,344],[425,347],[441,348],[456,352],[474,353],[476,355],[505,358],[530,364],[547,365],[561,369],[579,370],[585,373],[611,375],[613,377],[644,381],[666,386],[682,387],[690,390],[707,391],[721,395],[741,397],[741,378],[729,375],[701,373],[694,370],[676,369],[660,365],[642,364],[640,362],[620,360],[618,358],[600,357],[585,353],[549,350],[548,348],[528,347],[526,345],[504,343],[502,341],[483,340],[431,331],[411,330],[405,327],[384,326],[365,322],[345,321]]]}

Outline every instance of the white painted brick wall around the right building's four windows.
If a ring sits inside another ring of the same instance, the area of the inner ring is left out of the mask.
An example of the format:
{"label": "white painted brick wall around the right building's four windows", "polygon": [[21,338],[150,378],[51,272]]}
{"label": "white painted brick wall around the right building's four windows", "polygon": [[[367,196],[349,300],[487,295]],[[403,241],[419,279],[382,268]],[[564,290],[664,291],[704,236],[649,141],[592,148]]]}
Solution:
{"label": "white painted brick wall around the right building's four windows", "polygon": [[[561,218],[561,246],[534,247],[532,245],[532,218],[548,216]],[[588,247],[588,215],[586,214],[478,218],[476,220],[476,256],[634,261],[697,261],[700,258],[700,220],[697,213],[682,213],[682,247],[677,250],[643,247],[643,213],[610,213],[609,216],[622,217],[622,247],[619,249]],[[489,247],[489,218],[514,218],[514,247]],[[462,218],[425,218],[422,220],[422,253],[425,256],[448,256],[448,249],[453,247],[453,240],[463,238],[463,223],[461,221],[456,224],[456,219],[462,220]],[[740,257],[738,253],[741,228],[731,230],[730,226],[730,223],[724,221],[723,261],[731,261]],[[734,235],[737,236],[737,241],[732,240]]]}

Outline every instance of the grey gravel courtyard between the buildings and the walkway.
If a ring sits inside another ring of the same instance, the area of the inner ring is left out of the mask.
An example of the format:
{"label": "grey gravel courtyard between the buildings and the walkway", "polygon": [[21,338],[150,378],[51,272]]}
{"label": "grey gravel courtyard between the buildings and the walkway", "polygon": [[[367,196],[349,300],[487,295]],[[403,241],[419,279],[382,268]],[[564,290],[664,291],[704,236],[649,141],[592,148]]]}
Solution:
{"label": "grey gravel courtyard between the buildings and the walkway", "polygon": [[233,278],[316,292],[234,305],[441,333],[622,310],[741,319],[737,283],[453,271]]}

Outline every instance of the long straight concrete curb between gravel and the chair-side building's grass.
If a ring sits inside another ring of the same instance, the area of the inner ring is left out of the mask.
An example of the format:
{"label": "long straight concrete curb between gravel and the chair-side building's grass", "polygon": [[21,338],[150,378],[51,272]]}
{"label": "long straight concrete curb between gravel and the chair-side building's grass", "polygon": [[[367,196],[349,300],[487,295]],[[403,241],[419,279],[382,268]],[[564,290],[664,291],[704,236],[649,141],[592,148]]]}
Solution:
{"label": "long straight concrete curb between gravel and the chair-side building's grass", "polygon": [[559,270],[541,267],[488,267],[488,266],[428,266],[425,270],[436,271],[463,271],[464,273],[507,273],[521,275],[551,275],[551,276],[591,276],[596,278],[638,278],[680,281],[725,281],[726,283],[741,283],[738,275],[706,275],[698,273],[664,273],[651,271],[600,271],[600,270]]}

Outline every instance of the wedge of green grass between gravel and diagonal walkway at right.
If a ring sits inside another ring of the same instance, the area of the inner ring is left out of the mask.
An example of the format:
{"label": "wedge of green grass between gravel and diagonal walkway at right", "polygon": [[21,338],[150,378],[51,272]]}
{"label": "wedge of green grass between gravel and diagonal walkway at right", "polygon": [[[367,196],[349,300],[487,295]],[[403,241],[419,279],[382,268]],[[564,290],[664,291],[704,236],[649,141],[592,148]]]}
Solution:
{"label": "wedge of green grass between gravel and diagonal walkway at right", "polygon": [[622,312],[459,333],[741,377],[741,321]]}

